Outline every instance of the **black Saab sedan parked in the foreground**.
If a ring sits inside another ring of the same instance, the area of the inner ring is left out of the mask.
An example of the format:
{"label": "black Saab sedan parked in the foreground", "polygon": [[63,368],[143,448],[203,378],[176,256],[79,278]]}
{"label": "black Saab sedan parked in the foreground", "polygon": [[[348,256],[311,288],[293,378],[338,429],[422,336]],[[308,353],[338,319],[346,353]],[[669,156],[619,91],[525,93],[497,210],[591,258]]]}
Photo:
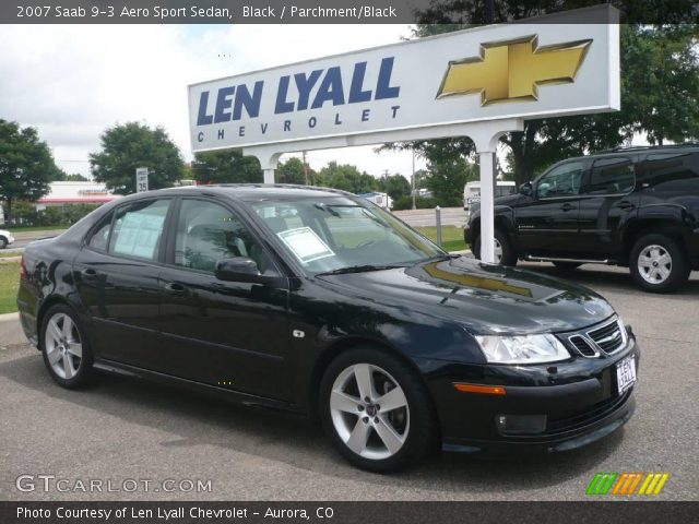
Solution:
{"label": "black Saab sedan parked in the foreground", "polygon": [[629,419],[639,348],[595,293],[450,255],[348,193],[179,188],[105,204],[22,261],[22,325],[95,368],[318,415],[355,465],[561,451]]}

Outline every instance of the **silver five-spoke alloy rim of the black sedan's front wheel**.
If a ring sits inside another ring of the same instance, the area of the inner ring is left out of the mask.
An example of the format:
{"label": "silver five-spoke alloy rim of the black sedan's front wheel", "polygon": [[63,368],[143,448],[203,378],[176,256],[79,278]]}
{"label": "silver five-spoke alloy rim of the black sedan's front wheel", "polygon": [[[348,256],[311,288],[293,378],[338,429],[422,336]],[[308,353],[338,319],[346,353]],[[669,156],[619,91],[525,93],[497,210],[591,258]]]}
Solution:
{"label": "silver five-spoke alloy rim of the black sedan's front wheel", "polygon": [[330,414],[340,439],[369,460],[395,455],[407,439],[410,407],[398,381],[370,364],[355,364],[335,379]]}

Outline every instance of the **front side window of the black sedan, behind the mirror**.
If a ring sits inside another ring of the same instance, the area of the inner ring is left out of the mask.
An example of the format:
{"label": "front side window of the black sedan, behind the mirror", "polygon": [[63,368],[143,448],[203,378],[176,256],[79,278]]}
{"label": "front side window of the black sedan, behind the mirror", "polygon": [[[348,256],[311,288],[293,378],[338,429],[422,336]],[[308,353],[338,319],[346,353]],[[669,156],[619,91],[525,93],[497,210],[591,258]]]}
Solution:
{"label": "front side window of the black sedan, behind the mirror", "polygon": [[175,265],[214,271],[222,259],[246,257],[261,273],[269,265],[247,227],[223,205],[186,199],[179,212],[175,237]]}

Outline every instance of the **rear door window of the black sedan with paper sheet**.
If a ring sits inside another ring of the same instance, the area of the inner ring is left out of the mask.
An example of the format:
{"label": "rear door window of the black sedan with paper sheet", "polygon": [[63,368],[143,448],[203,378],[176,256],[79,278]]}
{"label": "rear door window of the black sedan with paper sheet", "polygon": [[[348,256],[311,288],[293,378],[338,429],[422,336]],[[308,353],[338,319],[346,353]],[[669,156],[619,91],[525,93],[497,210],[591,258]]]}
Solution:
{"label": "rear door window of the black sedan with paper sheet", "polygon": [[117,210],[109,252],[139,259],[157,259],[170,200],[147,200]]}

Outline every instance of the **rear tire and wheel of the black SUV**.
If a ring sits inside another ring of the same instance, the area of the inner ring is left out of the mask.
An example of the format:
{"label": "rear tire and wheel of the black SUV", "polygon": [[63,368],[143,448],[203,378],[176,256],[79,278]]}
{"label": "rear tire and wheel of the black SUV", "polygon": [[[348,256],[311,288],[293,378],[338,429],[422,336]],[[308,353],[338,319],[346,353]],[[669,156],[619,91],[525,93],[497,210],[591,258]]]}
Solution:
{"label": "rear tire and wheel of the black SUV", "polygon": [[638,286],[650,293],[676,290],[691,271],[679,245],[657,234],[645,235],[633,245],[629,270]]}

